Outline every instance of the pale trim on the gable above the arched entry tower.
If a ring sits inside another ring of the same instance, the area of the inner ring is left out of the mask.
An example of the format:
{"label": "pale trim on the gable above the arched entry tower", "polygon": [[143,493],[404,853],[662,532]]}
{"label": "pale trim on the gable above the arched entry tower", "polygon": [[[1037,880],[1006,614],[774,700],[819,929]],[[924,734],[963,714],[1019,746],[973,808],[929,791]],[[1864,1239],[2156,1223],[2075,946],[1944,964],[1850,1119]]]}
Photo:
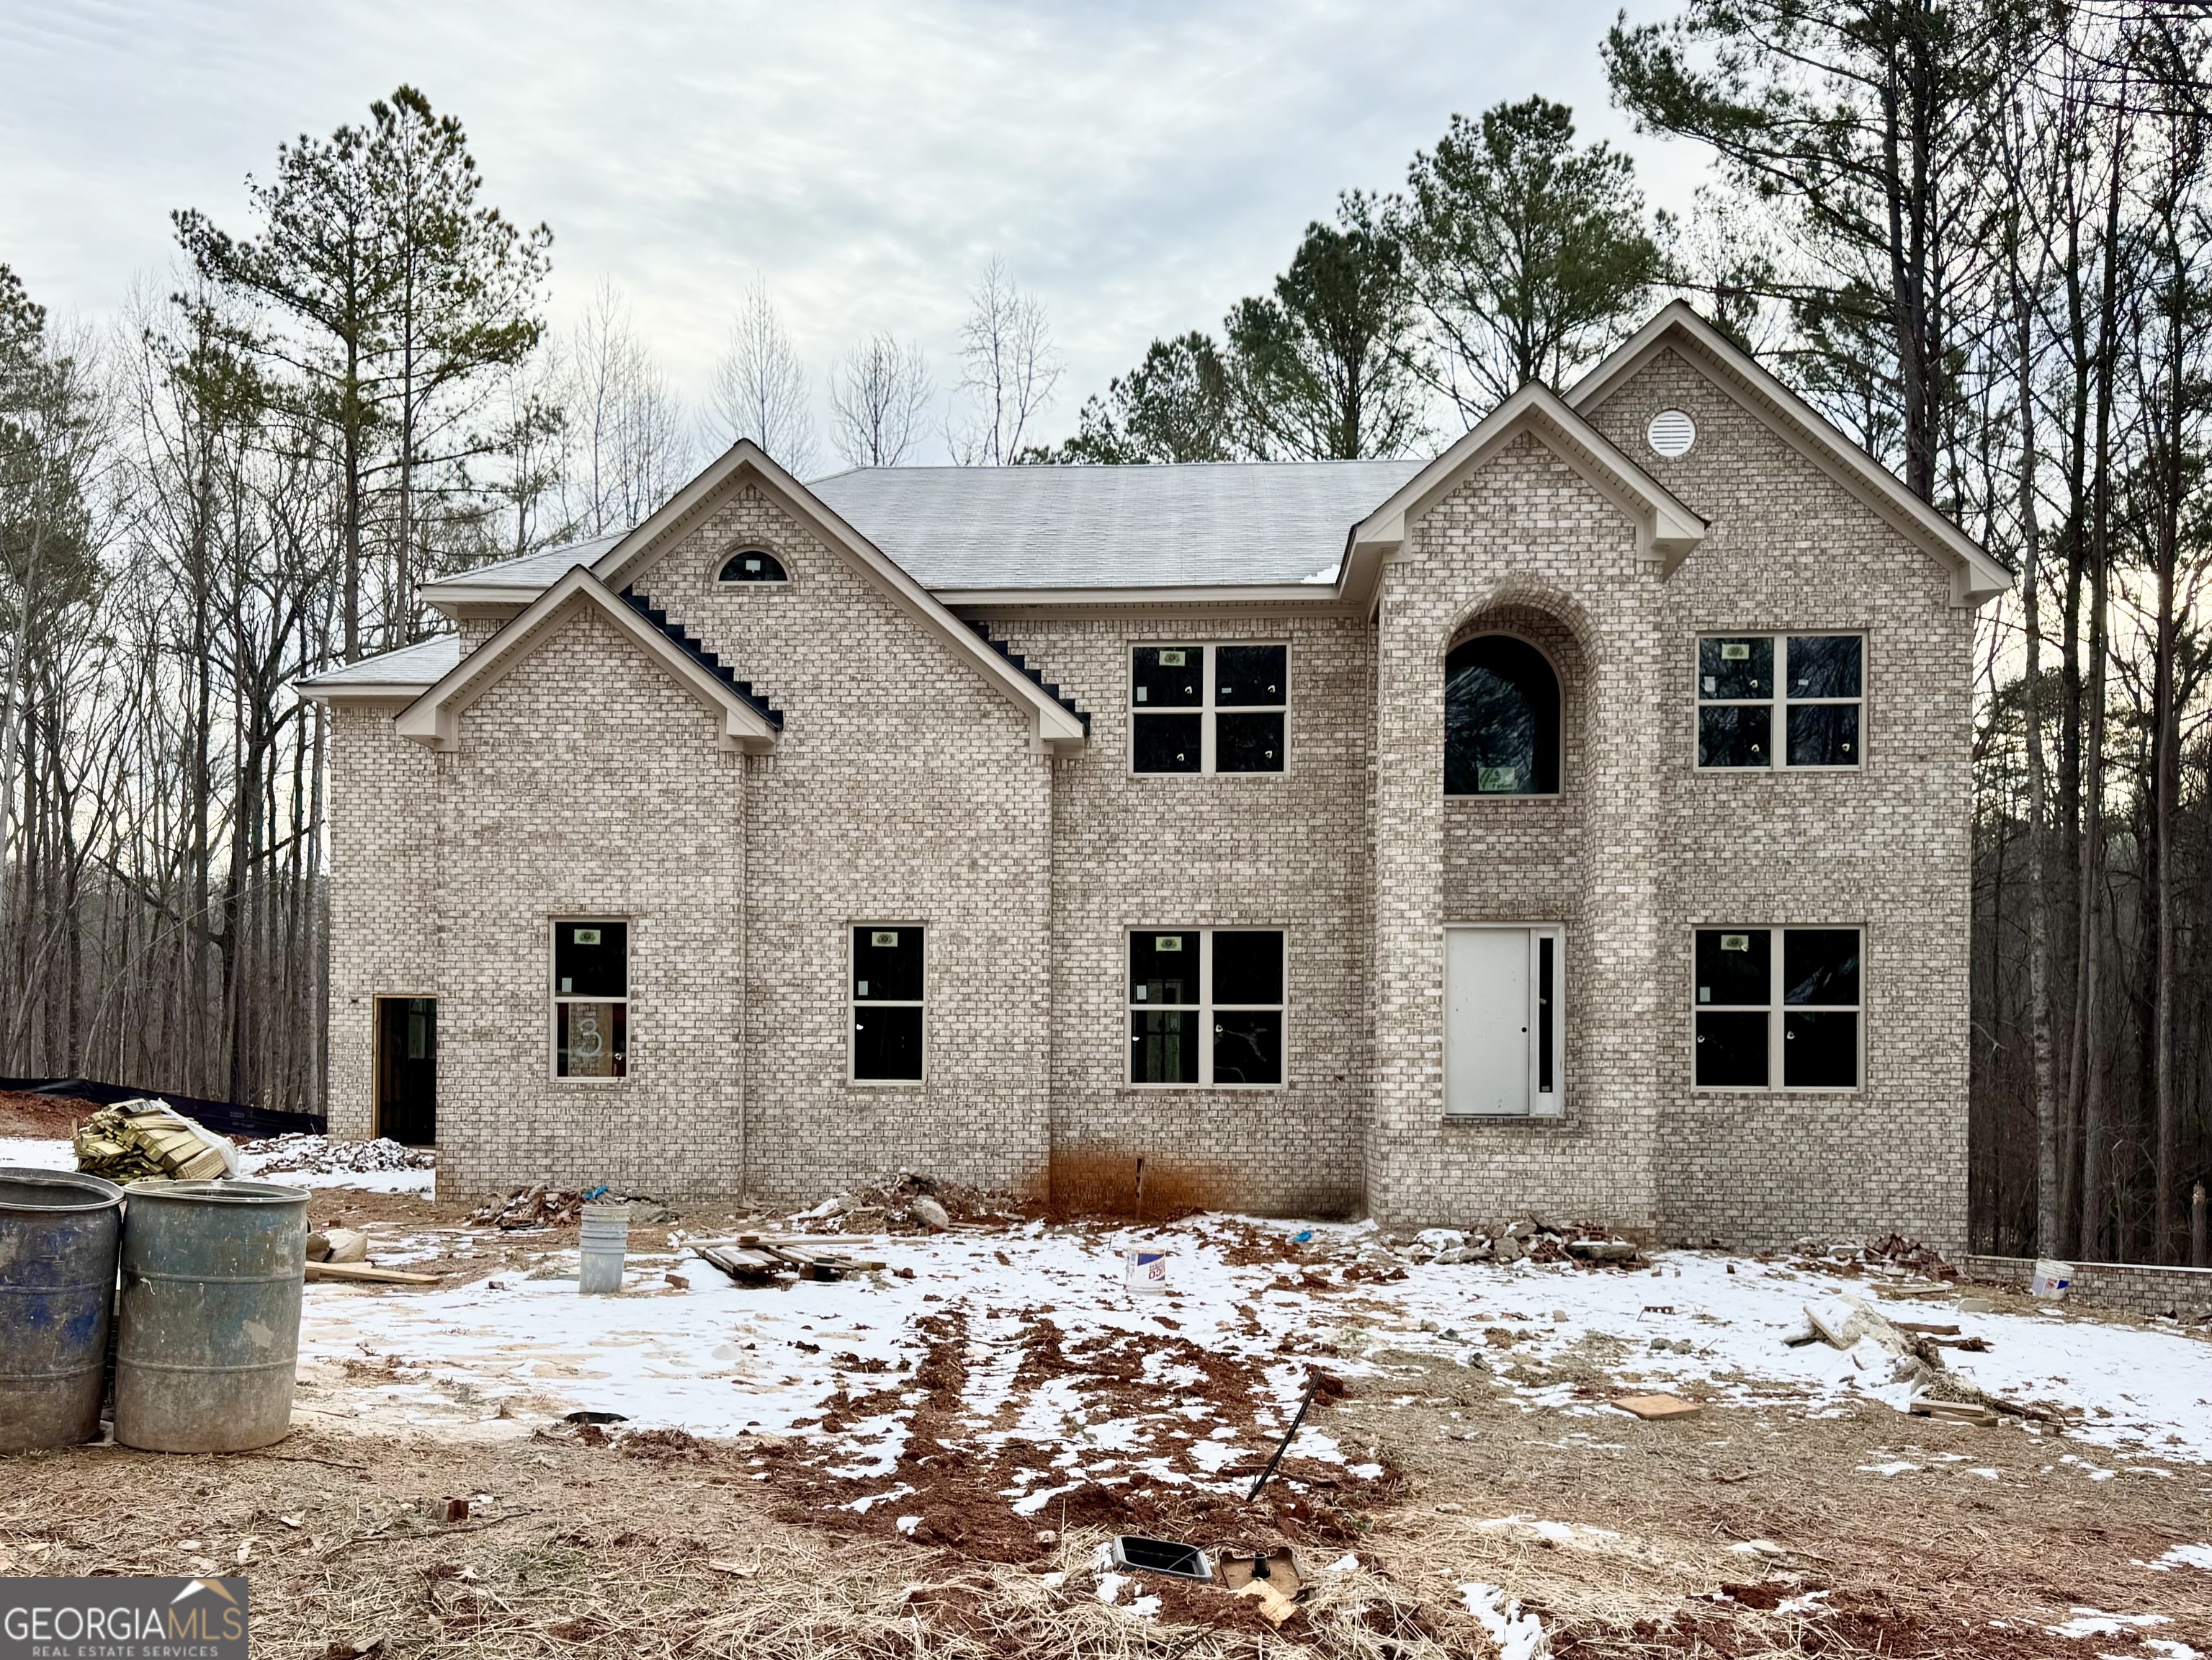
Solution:
{"label": "pale trim on the gable above the arched entry tower", "polygon": [[1659,560],[1666,573],[1705,538],[1703,518],[1568,409],[1559,394],[1546,385],[1524,385],[1352,527],[1338,593],[1363,609],[1371,604],[1383,564],[1405,551],[1407,529],[1522,434],[1542,443],[1619,507],[1637,527],[1637,553]]}

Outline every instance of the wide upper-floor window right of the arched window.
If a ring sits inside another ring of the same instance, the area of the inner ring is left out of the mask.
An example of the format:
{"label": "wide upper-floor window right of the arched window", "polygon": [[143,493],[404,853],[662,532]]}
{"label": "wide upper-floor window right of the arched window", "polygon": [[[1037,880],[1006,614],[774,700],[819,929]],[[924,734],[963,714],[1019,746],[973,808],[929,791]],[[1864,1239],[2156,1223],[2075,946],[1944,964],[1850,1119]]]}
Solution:
{"label": "wide upper-floor window right of the arched window", "polygon": [[1705,635],[1697,642],[1697,764],[1858,766],[1865,657],[1856,633]]}

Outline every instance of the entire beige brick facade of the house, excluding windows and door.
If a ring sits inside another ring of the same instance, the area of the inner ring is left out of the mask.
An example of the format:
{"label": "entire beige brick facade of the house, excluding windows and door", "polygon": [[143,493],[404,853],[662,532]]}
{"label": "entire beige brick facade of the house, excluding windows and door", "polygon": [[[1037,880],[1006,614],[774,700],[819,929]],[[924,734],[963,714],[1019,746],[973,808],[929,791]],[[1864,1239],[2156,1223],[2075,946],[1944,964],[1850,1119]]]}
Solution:
{"label": "entire beige brick facade of the house, excluding windows and door", "polygon": [[[1661,407],[1699,440],[1663,460]],[[1394,1222],[1540,1208],[1681,1239],[1964,1237],[1971,613],[1949,571],[1661,352],[1595,412],[1714,525],[1672,575],[1515,438],[1411,527],[1378,618],[1009,611],[1093,717],[1075,759],[757,485],[637,578],[787,713],[741,761],[584,613],[462,717],[458,755],[341,706],[332,1122],[369,1129],[369,1000],[440,998],[440,1186],[619,1180],[810,1197],[887,1169],[1128,1202]],[[765,547],[790,584],[721,584]],[[1699,775],[1699,631],[1867,631],[1867,761]],[[1562,673],[1555,799],[1442,795],[1442,660],[1482,631]],[[473,649],[482,629],[467,631]],[[1290,766],[1128,770],[1128,649],[1283,640]],[[546,925],[628,914],[633,1076],[546,1078]],[[929,1078],[847,1080],[847,930],[929,927]],[[1442,927],[1564,923],[1566,1116],[1442,1116]],[[1690,930],[1865,934],[1845,1093],[1690,1089]],[[1126,930],[1287,932],[1287,1085],[1133,1089]]]}

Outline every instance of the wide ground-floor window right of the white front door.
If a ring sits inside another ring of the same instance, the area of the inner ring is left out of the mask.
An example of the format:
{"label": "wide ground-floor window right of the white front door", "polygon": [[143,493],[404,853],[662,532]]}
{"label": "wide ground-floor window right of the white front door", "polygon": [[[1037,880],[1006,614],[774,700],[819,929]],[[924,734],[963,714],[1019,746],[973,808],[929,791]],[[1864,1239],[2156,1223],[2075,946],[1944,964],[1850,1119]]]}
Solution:
{"label": "wide ground-floor window right of the white front door", "polygon": [[1858,1089],[1856,927],[1697,930],[1699,1089]]}

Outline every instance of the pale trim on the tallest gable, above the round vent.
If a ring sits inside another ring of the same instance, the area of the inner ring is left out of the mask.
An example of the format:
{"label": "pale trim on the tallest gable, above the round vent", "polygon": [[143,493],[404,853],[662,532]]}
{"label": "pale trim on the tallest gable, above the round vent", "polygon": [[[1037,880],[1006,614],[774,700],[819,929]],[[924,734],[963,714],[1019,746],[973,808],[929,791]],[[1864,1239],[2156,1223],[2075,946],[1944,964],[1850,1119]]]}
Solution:
{"label": "pale trim on the tallest gable, above the round vent", "polygon": [[1688,301],[1672,301],[1621,347],[1582,376],[1566,394],[1568,405],[1593,414],[1619,392],[1663,345],[1701,370],[1721,392],[1767,423],[1792,449],[1843,485],[1913,542],[1951,567],[1951,602],[1978,606],[2013,589],[2013,573],[1966,531],[1913,496],[1874,456],[1851,443],[1836,423],[1805,403],[1708,323]]}

